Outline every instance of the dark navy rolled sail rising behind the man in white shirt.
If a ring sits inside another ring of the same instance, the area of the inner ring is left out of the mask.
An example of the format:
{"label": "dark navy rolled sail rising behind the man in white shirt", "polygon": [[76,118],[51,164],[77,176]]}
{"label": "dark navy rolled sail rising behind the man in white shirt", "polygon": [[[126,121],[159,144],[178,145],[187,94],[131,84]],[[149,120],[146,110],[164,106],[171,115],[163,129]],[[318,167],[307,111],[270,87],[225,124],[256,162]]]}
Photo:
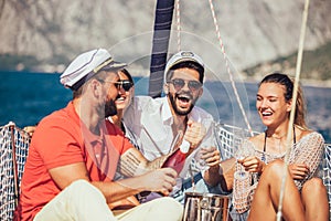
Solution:
{"label": "dark navy rolled sail rising behind the man in white shirt", "polygon": [[157,2],[148,92],[151,97],[160,97],[162,93],[173,7],[174,0]]}

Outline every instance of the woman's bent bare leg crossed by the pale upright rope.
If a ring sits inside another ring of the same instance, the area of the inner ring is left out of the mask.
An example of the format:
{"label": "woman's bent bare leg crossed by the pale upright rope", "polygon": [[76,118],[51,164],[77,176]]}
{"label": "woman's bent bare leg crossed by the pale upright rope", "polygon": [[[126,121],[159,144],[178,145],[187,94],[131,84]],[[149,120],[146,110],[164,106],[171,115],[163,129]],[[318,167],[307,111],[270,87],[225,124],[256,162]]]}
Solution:
{"label": "woman's bent bare leg crossed by the pale upright rope", "polygon": [[[288,170],[286,171],[282,218],[287,221],[305,220],[300,193]],[[282,173],[284,162],[280,160],[275,160],[265,168],[254,194],[248,220],[276,220]]]}

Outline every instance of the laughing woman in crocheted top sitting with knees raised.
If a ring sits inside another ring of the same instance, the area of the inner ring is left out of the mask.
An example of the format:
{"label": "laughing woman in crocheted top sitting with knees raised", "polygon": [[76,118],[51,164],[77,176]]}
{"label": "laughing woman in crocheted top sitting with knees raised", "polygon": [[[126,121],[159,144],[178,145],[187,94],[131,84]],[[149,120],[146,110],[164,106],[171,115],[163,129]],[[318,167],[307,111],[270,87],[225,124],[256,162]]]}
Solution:
{"label": "laughing woman in crocheted top sitting with knees raised", "polygon": [[243,146],[253,149],[254,156],[238,160],[246,171],[257,176],[245,191],[239,191],[238,187],[243,187],[241,180],[235,180],[234,186],[234,206],[238,212],[250,209],[248,220],[276,219],[289,129],[292,145],[286,170],[282,219],[329,220],[327,190],[317,176],[324,140],[306,125],[300,87],[293,125],[289,127],[292,91],[293,81],[281,73],[269,74],[259,84],[256,108],[266,130],[249,138]]}

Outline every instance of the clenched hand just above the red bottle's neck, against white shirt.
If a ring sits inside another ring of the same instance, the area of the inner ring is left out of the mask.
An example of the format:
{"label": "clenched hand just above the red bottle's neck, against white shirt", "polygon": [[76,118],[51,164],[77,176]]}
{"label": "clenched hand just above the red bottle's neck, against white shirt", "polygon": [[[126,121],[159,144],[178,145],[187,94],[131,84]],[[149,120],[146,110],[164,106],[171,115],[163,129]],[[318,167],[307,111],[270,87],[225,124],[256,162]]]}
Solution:
{"label": "clenched hand just above the red bottle's neck, against white shirt", "polygon": [[191,144],[191,148],[195,148],[200,145],[205,134],[206,129],[201,123],[189,120],[184,139]]}

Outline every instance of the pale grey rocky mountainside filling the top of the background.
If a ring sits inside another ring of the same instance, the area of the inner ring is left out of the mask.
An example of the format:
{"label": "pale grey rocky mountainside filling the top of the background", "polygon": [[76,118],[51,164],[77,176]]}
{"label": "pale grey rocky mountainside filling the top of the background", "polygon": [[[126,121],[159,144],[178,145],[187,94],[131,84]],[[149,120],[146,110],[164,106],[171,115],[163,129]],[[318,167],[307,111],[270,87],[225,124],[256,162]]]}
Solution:
{"label": "pale grey rocky mountainside filling the top of the background", "polygon": [[[301,0],[231,1],[214,3],[226,55],[239,72],[291,56],[296,53],[303,10]],[[150,32],[156,1],[95,0],[2,0],[0,2],[0,69],[62,72],[77,54],[95,49],[113,49],[127,39]],[[203,10],[202,10],[203,9]],[[305,50],[313,51],[331,41],[331,1],[311,1]],[[217,46],[207,1],[181,1],[182,46],[209,56],[202,41]],[[175,30],[173,17],[172,29]],[[188,34],[188,35],[189,35]],[[170,51],[177,50],[175,32]],[[197,39],[200,38],[200,39]],[[197,39],[197,40],[196,40]],[[134,41],[134,40],[132,40]],[[141,48],[145,49],[141,50]],[[151,40],[138,42],[118,53],[150,52]],[[111,50],[110,50],[111,52]],[[145,56],[146,54],[141,54]],[[139,56],[139,54],[137,55]],[[24,62],[22,62],[24,61]],[[220,62],[220,61],[216,61]],[[328,76],[329,78],[329,76]]]}

